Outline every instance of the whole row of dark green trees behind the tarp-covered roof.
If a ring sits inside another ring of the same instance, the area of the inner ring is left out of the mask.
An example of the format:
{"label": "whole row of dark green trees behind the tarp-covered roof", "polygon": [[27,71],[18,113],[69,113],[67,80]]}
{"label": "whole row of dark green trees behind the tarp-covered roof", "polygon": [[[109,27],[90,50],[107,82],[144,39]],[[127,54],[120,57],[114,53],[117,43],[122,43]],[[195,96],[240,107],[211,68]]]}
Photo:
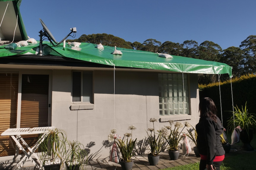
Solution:
{"label": "whole row of dark green trees behind the tarp-covered roof", "polygon": [[[91,34],[81,35],[78,39],[67,40],[69,42],[86,42],[105,46],[117,46],[121,48],[166,53],[176,56],[184,56],[208,61],[217,61],[233,67],[234,77],[240,77],[247,74],[256,74],[256,35],[248,36],[241,42],[239,47],[222,48],[212,42],[204,41],[200,45],[196,41],[186,40],[182,44],[171,41],[161,43],[155,39],[147,39],[143,43],[135,41],[133,43],[125,41],[122,38],[111,34]],[[221,80],[229,79],[228,76],[222,76]],[[198,79],[200,84],[208,84],[217,81],[216,75],[204,75]]]}

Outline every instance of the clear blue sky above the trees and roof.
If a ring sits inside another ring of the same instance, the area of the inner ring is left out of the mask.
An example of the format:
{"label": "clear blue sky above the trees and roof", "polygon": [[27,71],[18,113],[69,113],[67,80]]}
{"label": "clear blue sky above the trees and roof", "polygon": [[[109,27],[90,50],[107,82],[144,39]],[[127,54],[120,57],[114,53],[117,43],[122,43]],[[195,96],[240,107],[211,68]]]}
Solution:
{"label": "clear blue sky above the trees and roof", "polygon": [[140,43],[213,41],[226,49],[256,35],[255,6],[255,0],[23,0],[20,12],[36,40],[41,18],[56,41],[76,27],[75,38],[107,33]]}

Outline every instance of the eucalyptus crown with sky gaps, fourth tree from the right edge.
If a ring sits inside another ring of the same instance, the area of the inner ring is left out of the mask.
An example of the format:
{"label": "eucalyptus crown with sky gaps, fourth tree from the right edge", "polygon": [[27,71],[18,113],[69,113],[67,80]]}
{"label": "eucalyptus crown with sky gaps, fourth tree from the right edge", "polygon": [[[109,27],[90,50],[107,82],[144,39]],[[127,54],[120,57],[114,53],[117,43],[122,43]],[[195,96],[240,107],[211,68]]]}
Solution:
{"label": "eucalyptus crown with sky gaps, fourth tree from the right edge", "polygon": [[196,41],[186,40],[182,43],[182,45],[183,45],[182,56],[197,58],[198,43]]}

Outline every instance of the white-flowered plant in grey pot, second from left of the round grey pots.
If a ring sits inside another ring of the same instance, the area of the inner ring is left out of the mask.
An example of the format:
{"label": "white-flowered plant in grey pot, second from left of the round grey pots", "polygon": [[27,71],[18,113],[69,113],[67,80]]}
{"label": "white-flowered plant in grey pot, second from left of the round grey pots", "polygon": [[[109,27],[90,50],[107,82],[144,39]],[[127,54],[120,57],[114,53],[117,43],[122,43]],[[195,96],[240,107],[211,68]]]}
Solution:
{"label": "white-flowered plant in grey pot, second from left of the round grey pots", "polygon": [[165,141],[160,131],[156,137],[154,122],[157,122],[157,119],[150,118],[149,122],[153,123],[153,128],[148,128],[148,131],[150,131],[150,134],[148,134],[147,132],[147,135],[148,135],[147,141],[150,146],[150,153],[148,154],[148,162],[150,165],[157,165],[159,161],[159,153],[163,150],[162,146],[165,143]]}

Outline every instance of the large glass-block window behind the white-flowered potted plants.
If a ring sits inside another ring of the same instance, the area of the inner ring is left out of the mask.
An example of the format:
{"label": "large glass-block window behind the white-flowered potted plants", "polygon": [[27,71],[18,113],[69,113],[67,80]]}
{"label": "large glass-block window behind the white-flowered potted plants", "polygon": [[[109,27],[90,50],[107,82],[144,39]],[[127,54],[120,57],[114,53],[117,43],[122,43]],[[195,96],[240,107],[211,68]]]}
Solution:
{"label": "large glass-block window behind the white-flowered potted plants", "polygon": [[187,74],[159,73],[158,80],[160,116],[189,114]]}

